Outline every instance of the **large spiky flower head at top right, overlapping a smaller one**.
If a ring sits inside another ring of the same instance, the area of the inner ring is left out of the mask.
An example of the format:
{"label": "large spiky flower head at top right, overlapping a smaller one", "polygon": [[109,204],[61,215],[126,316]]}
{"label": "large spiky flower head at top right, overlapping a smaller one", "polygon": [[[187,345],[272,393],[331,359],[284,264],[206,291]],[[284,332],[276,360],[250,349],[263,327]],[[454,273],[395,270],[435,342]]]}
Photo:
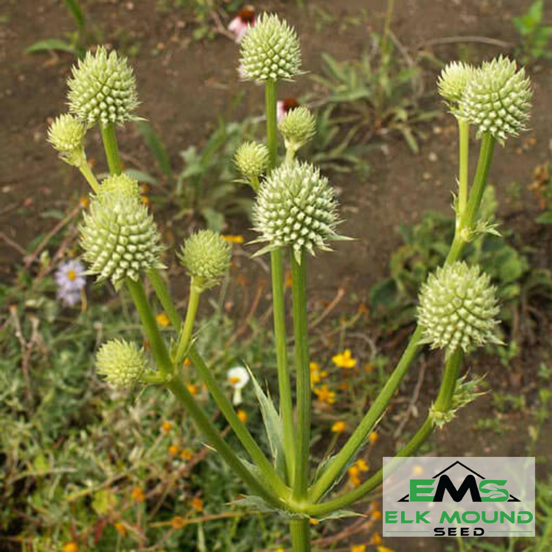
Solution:
{"label": "large spiky flower head at top right, overlapping a smaller one", "polygon": [[527,129],[531,83],[522,68],[506,57],[487,61],[474,72],[460,102],[461,115],[477,125],[477,134],[490,132],[497,140]]}

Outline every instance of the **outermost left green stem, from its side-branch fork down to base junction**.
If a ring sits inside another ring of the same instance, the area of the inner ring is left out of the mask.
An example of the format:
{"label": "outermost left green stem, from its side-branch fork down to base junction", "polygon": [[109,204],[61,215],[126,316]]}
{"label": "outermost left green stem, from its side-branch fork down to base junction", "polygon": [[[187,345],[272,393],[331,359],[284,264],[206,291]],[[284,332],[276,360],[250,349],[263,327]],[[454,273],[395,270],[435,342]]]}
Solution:
{"label": "outermost left green stem, from its side-branch fork down to base junction", "polygon": [[241,477],[243,482],[250,487],[250,489],[261,496],[271,505],[277,508],[285,508],[285,502],[279,497],[269,492],[253,474],[243,465],[242,461],[236,456],[230,446],[222,439],[219,432],[209,418],[205,415],[201,407],[197,404],[194,397],[180,379],[172,379],[167,382],[167,388],[171,390],[173,395],[182,403],[185,410],[192,416],[195,424],[201,432],[208,438],[211,446],[216,449],[223,460]]}

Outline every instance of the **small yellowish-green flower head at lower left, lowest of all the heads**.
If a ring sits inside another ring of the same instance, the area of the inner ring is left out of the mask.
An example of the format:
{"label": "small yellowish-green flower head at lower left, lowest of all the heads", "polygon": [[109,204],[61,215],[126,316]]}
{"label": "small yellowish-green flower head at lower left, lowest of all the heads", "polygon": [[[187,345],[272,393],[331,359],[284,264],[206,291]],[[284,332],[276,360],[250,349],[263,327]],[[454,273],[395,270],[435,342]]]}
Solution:
{"label": "small yellowish-green flower head at lower left, lowest of all the heads", "polygon": [[96,355],[98,374],[114,387],[130,387],[146,370],[144,349],[124,339],[104,343]]}

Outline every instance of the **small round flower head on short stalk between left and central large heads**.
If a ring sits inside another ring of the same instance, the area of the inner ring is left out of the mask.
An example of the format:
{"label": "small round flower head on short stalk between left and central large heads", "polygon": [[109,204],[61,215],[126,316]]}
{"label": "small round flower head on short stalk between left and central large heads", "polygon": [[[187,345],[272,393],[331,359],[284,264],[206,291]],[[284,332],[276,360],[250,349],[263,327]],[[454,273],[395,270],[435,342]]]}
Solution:
{"label": "small round flower head on short stalk between left and central large heads", "polygon": [[200,289],[220,283],[230,268],[231,256],[230,243],[213,230],[192,234],[178,254],[182,266]]}

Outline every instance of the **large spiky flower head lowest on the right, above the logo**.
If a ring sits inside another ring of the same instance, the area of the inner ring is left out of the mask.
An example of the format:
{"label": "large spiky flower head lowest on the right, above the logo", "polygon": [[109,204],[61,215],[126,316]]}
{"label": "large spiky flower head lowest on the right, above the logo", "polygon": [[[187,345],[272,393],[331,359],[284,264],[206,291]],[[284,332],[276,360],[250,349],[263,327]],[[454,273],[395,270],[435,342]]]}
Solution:
{"label": "large spiky flower head lowest on the right, above the logo", "polygon": [[498,311],[496,288],[478,266],[455,262],[438,268],[420,293],[423,342],[450,352],[500,343],[495,335]]}

